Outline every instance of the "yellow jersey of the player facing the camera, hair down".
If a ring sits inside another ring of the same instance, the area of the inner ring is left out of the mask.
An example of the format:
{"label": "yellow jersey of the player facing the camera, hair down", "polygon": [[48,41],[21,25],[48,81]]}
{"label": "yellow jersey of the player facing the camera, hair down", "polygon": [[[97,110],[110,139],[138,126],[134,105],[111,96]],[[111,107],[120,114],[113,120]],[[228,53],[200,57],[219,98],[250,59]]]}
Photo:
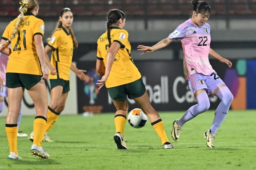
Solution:
{"label": "yellow jersey of the player facing the camera, hair down", "polygon": [[57,71],[57,75],[51,75],[49,71],[49,79],[69,80],[69,70],[73,57],[73,40],[71,35],[61,26],[60,30],[53,33],[47,45],[53,49],[51,64]]}

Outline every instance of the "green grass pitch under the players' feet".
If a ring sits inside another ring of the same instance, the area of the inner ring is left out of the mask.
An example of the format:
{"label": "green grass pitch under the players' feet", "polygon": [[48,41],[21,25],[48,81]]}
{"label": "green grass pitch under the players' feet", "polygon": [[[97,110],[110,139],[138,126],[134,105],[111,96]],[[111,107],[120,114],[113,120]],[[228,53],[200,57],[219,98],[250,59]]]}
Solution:
{"label": "green grass pitch under the players' feet", "polygon": [[[18,138],[22,159],[7,160],[5,118],[0,117],[0,170],[256,170],[256,110],[229,111],[215,137],[215,148],[206,147],[203,133],[210,128],[214,110],[200,114],[172,140],[172,122],[183,112],[159,113],[174,149],[164,150],[150,122],[140,129],[125,125],[129,150],[117,150],[113,141],[114,114],[94,117],[61,115],[43,142],[50,159],[30,155],[31,141]],[[30,133],[32,116],[24,116],[20,130]]]}

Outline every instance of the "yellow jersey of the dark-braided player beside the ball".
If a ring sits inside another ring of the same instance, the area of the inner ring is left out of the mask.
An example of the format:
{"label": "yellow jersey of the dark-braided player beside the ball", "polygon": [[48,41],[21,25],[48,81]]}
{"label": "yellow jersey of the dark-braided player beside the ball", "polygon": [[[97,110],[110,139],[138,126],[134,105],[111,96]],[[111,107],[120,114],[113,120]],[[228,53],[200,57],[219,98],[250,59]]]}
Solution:
{"label": "yellow jersey of the dark-braided player beside the ball", "polygon": [[[106,87],[116,87],[140,79],[140,72],[132,60],[128,32],[119,27],[110,27],[110,37],[111,43],[113,43],[113,41],[118,42],[121,45],[121,48],[116,53],[108,80],[106,81]],[[103,60],[106,65],[109,50],[107,32],[99,37],[97,44],[97,59]]]}

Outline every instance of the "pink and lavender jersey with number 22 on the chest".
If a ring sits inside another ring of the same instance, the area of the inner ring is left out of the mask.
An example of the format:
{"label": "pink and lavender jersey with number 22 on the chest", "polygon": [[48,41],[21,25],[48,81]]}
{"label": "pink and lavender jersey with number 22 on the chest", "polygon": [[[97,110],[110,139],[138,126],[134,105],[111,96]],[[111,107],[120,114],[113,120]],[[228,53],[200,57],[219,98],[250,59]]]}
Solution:
{"label": "pink and lavender jersey with number 22 on the chest", "polygon": [[183,71],[186,80],[195,73],[209,75],[214,72],[208,58],[210,31],[208,23],[199,27],[189,19],[169,35],[170,39],[181,39],[184,52]]}

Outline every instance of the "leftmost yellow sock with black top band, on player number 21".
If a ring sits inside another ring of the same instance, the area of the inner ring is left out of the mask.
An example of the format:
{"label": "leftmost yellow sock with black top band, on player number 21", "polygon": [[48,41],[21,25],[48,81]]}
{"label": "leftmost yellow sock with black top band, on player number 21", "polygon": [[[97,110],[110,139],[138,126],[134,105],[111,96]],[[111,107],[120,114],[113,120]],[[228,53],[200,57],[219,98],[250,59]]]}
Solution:
{"label": "leftmost yellow sock with black top band, on player number 21", "polygon": [[17,133],[18,126],[17,124],[5,124],[5,131],[9,143],[10,152],[14,152],[15,155],[18,154],[17,150]]}

